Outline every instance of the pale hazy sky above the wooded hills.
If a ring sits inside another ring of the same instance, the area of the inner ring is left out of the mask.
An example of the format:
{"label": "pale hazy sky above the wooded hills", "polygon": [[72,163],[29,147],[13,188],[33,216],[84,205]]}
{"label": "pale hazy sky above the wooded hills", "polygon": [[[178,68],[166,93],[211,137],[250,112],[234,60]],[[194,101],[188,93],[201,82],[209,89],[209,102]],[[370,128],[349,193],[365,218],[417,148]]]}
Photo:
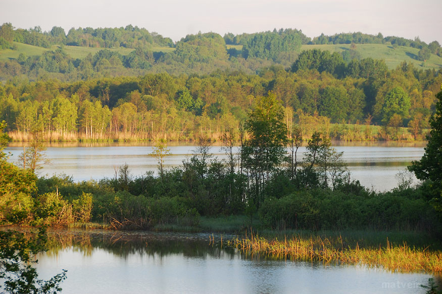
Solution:
{"label": "pale hazy sky above the wooded hills", "polygon": [[0,23],[16,28],[144,27],[174,41],[297,28],[307,36],[355,32],[442,44],[442,0],[0,0]]}

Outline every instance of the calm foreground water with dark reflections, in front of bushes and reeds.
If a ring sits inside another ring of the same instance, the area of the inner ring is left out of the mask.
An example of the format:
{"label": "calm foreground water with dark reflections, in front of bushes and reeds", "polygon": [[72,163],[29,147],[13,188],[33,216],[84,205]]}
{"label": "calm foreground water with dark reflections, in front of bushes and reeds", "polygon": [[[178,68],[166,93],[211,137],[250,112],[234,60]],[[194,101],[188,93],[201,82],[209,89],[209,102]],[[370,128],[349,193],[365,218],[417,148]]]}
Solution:
{"label": "calm foreground water with dark reflections, in front of bushes and reeds", "polygon": [[431,277],[245,256],[208,234],[57,230],[50,242],[38,272],[68,270],[63,293],[424,293]]}

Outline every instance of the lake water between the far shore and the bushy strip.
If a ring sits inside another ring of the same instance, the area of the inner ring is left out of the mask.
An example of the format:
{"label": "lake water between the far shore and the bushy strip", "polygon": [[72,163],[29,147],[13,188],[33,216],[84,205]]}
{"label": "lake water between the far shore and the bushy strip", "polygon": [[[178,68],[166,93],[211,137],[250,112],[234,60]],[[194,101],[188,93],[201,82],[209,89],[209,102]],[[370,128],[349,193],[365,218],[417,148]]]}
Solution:
{"label": "lake water between the far shore and the bushy strip", "polygon": [[[406,170],[413,160],[419,160],[424,154],[426,143],[397,142],[333,142],[334,148],[343,152],[343,159],[348,163],[352,178],[366,187],[376,190],[390,190],[397,186],[396,175]],[[176,167],[190,157],[197,147],[183,142],[170,142],[171,155],[166,157],[166,168]],[[149,154],[152,144],[145,142],[88,143],[67,142],[49,143],[46,156],[51,160],[38,171],[39,175],[52,176],[65,173],[75,181],[115,177],[115,168],[125,163],[132,175],[142,175],[146,171],[157,172],[157,162]],[[305,146],[298,151],[305,152]],[[12,156],[9,161],[17,162],[23,152],[23,143],[11,143],[6,149]],[[219,159],[226,158],[220,146],[212,146],[211,152]]]}

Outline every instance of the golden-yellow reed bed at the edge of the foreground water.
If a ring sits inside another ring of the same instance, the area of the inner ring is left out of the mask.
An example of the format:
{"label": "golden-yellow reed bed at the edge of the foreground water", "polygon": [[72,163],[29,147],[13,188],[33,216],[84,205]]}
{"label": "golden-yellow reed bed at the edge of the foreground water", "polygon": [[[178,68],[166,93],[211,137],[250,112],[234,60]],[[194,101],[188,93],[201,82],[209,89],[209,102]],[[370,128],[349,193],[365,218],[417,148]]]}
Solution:
{"label": "golden-yellow reed bed at the edge of the foreground water", "polygon": [[442,252],[411,248],[407,243],[394,246],[386,241],[386,246],[359,248],[359,244],[349,246],[338,236],[333,239],[295,235],[283,240],[268,240],[257,235],[235,238],[225,244],[241,250],[245,254],[266,257],[316,261],[324,264],[349,263],[369,267],[382,267],[399,272],[442,272]]}

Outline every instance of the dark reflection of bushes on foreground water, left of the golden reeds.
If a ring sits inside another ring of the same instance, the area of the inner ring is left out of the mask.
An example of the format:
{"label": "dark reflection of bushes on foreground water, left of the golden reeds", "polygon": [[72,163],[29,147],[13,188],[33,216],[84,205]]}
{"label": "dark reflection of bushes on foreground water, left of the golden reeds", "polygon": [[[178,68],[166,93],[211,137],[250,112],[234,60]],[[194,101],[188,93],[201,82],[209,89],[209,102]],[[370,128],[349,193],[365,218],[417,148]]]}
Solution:
{"label": "dark reflection of bushes on foreground water, left of the golden reeds", "polygon": [[56,256],[69,248],[85,256],[91,255],[93,250],[104,250],[124,259],[130,255],[164,257],[182,254],[187,258],[239,256],[236,249],[221,247],[221,243],[216,241],[221,240],[220,235],[215,238],[215,242],[211,242],[207,233],[52,230],[49,232],[50,250],[47,256]]}

